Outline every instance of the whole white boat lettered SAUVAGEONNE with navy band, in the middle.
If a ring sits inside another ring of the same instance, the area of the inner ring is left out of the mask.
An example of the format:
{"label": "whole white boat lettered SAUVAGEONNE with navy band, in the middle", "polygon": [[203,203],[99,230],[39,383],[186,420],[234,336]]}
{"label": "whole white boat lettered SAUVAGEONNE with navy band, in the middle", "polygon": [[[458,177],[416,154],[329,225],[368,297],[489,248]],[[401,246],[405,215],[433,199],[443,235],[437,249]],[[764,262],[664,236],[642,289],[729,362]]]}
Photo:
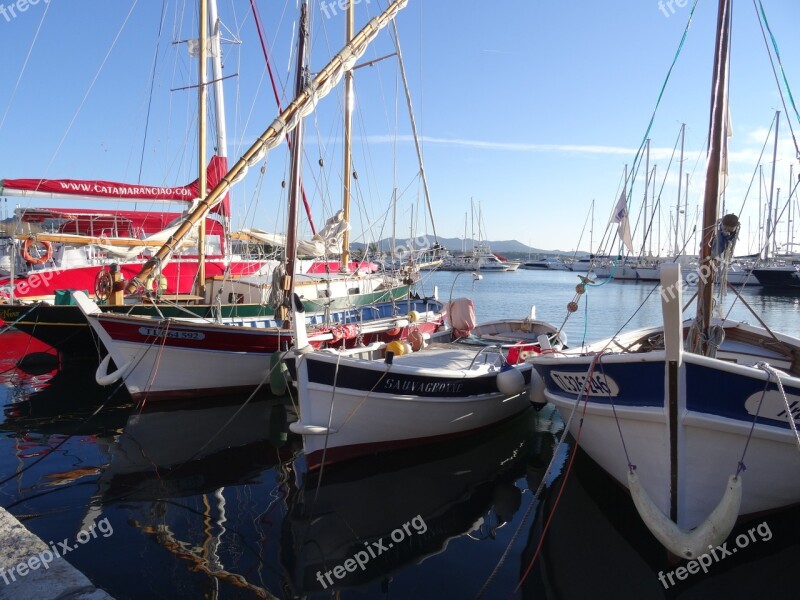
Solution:
{"label": "whole white boat lettered SAUVAGEONNE with navy band, in the middle", "polygon": [[[348,44],[353,20],[351,3]],[[349,105],[351,87],[345,91]],[[291,219],[290,211],[290,223]],[[295,289],[293,284],[291,292]],[[453,330],[463,328],[455,314],[471,312],[474,317],[469,302],[450,302],[448,311]],[[290,428],[303,436],[310,470],[379,450],[474,433],[530,406],[533,369],[525,360],[509,360],[501,343],[428,344],[425,332],[415,331],[412,323],[408,344],[378,341],[318,350],[305,323],[302,304],[293,302],[292,355],[300,419]],[[547,335],[543,337],[544,342]]]}

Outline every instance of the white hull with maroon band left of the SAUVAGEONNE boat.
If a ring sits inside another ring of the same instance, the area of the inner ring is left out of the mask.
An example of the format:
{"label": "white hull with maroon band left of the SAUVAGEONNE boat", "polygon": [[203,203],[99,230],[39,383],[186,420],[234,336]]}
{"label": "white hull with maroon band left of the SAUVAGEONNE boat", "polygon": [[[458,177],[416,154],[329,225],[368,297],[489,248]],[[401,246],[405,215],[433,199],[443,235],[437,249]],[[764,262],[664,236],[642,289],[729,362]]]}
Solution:
{"label": "white hull with maroon band left of the SAUVAGEONNE boat", "polygon": [[[411,310],[425,315],[429,314],[427,308],[440,306],[425,300],[410,304]],[[411,328],[432,333],[441,325],[440,317],[425,317],[410,324],[402,315],[392,316],[396,308],[394,303],[385,303],[375,310],[342,311],[327,318],[324,314],[308,315],[309,325],[323,327],[322,333],[312,332],[312,343],[354,344],[358,338],[348,335],[358,332],[365,332],[365,342],[399,339]],[[128,393],[137,401],[252,390],[268,383],[272,354],[288,349],[294,340],[291,330],[268,318],[217,324],[92,313],[91,303],[86,310],[92,329],[120,370]],[[324,327],[330,323],[328,319],[337,319],[339,325]],[[105,375],[98,373],[101,379]]]}

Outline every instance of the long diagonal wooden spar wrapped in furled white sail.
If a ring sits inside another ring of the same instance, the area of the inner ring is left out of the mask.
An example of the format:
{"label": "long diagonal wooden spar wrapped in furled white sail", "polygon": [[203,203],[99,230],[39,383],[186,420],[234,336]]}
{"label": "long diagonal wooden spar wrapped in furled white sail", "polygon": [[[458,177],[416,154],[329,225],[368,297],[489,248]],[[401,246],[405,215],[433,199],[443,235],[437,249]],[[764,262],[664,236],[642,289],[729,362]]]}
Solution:
{"label": "long diagonal wooden spar wrapped in furled white sail", "polygon": [[159,248],[155,255],[150,258],[136,276],[134,276],[125,286],[125,292],[133,294],[142,282],[158,268],[160,264],[174,252],[177,244],[186,237],[192,227],[209,210],[218,204],[231,186],[238,183],[246,174],[247,170],[262,160],[266,153],[281,143],[281,139],[292,131],[297,121],[311,112],[315,103],[325,97],[336,85],[343,75],[343,72],[352,67],[353,63],[363,55],[369,42],[386,27],[397,13],[408,4],[408,0],[394,0],[383,13],[373,18],[364,28],[353,38],[353,41],[344,49],[339,51],[330,62],[325,65],[314,77],[314,80],[306,86],[302,93],[297,96],[287,106],[278,117],[261,133],[253,142],[253,145],[236,161],[230,170],[220,178],[219,183],[208,193],[208,196],[201,198],[197,206],[186,216],[183,223],[167,242]]}

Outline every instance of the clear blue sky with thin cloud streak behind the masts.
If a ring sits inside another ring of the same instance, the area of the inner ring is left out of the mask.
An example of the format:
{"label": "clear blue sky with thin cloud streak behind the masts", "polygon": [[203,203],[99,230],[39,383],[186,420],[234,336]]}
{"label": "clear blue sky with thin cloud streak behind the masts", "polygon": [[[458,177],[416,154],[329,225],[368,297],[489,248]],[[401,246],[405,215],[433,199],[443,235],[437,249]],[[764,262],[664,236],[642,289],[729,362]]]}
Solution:
{"label": "clear blue sky with thin cloud streak behind the masts", "polygon": [[[800,99],[800,3],[762,1]],[[159,38],[161,0],[29,0],[25,12],[10,11],[14,3],[0,0],[0,177],[151,184],[194,179],[196,95],[170,90],[191,85],[196,77],[185,47],[171,43],[196,36],[196,4],[166,2]],[[424,138],[437,233],[462,236],[464,215],[474,199],[489,239],[569,250],[577,244],[595,199],[596,244],[686,26],[691,3],[679,4],[683,2],[660,8],[657,0],[410,0],[398,27]],[[385,0],[357,3],[357,27],[385,5]],[[704,179],[716,5],[700,2],[651,132],[660,186],[680,124],[686,123],[691,217]],[[774,111],[782,107],[753,4],[736,0],[734,5],[728,202],[738,212]],[[296,3],[258,0],[257,6],[273,67],[285,84]],[[322,0],[313,0],[311,7],[311,68],[316,71],[339,49],[344,18],[330,2],[323,9]],[[237,75],[225,83],[229,154],[236,158],[277,112],[249,2],[219,0],[219,10],[225,26],[241,40],[224,48],[225,74]],[[392,51],[384,32],[366,59]],[[395,187],[400,197],[398,235],[408,237],[412,214],[415,234],[431,232],[405,101],[402,95],[395,100],[398,85],[394,59],[357,72],[356,239],[391,231],[385,215]],[[341,106],[337,89],[307,122],[305,180],[317,223],[340,203]],[[788,117],[800,135],[797,118],[791,113]],[[783,114],[777,165],[783,198],[791,163],[797,172],[786,118]],[[285,147],[277,148],[263,177],[254,169],[235,189],[236,225],[283,227],[281,181],[287,160]],[[763,164],[769,174],[771,158]],[[669,236],[677,179],[673,165],[662,192],[663,243]],[[634,214],[642,194],[637,184]],[[741,215],[742,245],[754,250],[757,195],[751,196]],[[11,206],[16,202],[9,199]],[[589,249],[588,233],[581,248]]]}

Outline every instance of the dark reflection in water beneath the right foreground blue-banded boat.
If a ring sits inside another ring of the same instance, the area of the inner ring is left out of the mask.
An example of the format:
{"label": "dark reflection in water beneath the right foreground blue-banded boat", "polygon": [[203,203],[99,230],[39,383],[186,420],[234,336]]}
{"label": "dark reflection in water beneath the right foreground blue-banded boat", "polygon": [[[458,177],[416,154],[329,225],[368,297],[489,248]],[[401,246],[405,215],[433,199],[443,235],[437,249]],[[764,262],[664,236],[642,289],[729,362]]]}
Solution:
{"label": "dark reflection in water beneath the right foreground blue-banded boat", "polygon": [[700,563],[690,573],[688,561],[671,557],[648,531],[624,488],[582,451],[569,476],[543,499],[530,527],[523,570],[541,541],[562,482],[564,493],[523,585],[523,598],[761,598],[765,590],[773,599],[797,598],[800,509],[741,521],[724,551],[715,548],[712,555],[709,550],[707,573]]}

